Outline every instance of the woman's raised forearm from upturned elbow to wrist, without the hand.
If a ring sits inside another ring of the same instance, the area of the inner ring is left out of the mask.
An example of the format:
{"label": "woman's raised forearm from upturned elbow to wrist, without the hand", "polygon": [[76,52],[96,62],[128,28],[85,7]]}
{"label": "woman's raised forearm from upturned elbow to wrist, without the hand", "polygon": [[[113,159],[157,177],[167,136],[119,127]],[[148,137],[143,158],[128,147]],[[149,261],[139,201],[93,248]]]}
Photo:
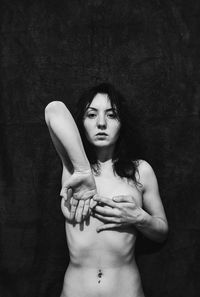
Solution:
{"label": "woman's raised forearm from upturned elbow to wrist, without the hand", "polygon": [[62,157],[64,153],[68,155],[75,171],[90,170],[78,128],[65,104],[61,101],[50,102],[45,108],[45,121],[62,145]]}

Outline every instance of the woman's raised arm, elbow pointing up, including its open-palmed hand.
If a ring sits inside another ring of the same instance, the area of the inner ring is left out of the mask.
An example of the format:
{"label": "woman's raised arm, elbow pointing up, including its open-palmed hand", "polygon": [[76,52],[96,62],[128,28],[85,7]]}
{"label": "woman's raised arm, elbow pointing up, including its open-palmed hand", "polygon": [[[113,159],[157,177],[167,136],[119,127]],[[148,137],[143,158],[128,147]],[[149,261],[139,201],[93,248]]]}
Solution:
{"label": "woman's raised arm, elbow pointing up, including its open-palmed hand", "polygon": [[61,195],[67,199],[67,192],[72,188],[75,199],[71,199],[71,220],[80,222],[89,213],[96,185],[78,128],[61,101],[52,101],[46,106],[45,121],[63,164]]}

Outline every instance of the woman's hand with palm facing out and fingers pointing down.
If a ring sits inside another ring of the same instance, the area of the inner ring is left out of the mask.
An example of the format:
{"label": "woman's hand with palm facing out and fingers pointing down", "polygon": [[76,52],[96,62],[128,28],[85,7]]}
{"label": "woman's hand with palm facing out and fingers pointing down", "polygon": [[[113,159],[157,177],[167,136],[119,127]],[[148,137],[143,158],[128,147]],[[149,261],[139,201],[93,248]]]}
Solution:
{"label": "woman's hand with palm facing out and fingers pointing down", "polygon": [[[69,189],[72,194],[69,195]],[[60,195],[67,205],[67,210],[70,210],[70,215],[67,218],[70,221],[75,219],[75,222],[80,223],[90,214],[90,208],[96,205],[96,202],[91,201],[91,198],[96,194],[96,184],[92,171],[74,171],[71,177],[63,183]],[[70,204],[69,204],[70,203]],[[63,205],[65,205],[63,202]]]}

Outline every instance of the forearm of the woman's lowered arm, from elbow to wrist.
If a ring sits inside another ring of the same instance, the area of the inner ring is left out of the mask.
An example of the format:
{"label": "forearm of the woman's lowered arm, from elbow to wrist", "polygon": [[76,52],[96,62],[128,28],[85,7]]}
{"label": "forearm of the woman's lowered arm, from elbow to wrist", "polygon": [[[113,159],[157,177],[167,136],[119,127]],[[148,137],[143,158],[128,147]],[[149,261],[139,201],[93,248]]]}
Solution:
{"label": "forearm of the woman's lowered arm, from elbow to wrist", "polygon": [[151,216],[142,211],[135,225],[140,232],[151,240],[163,242],[167,238],[168,223],[163,218]]}

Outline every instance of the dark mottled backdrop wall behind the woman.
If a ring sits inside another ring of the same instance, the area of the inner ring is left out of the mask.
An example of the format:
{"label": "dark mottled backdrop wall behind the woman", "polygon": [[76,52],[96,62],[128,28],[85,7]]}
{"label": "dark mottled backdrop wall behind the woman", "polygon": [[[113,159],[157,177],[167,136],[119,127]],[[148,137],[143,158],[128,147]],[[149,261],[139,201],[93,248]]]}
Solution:
{"label": "dark mottled backdrop wall behind the woman", "polygon": [[137,110],[169,220],[164,246],[138,240],[146,296],[199,296],[199,1],[1,3],[0,297],[60,294],[61,162],[44,108],[62,100],[73,113],[103,81]]}

